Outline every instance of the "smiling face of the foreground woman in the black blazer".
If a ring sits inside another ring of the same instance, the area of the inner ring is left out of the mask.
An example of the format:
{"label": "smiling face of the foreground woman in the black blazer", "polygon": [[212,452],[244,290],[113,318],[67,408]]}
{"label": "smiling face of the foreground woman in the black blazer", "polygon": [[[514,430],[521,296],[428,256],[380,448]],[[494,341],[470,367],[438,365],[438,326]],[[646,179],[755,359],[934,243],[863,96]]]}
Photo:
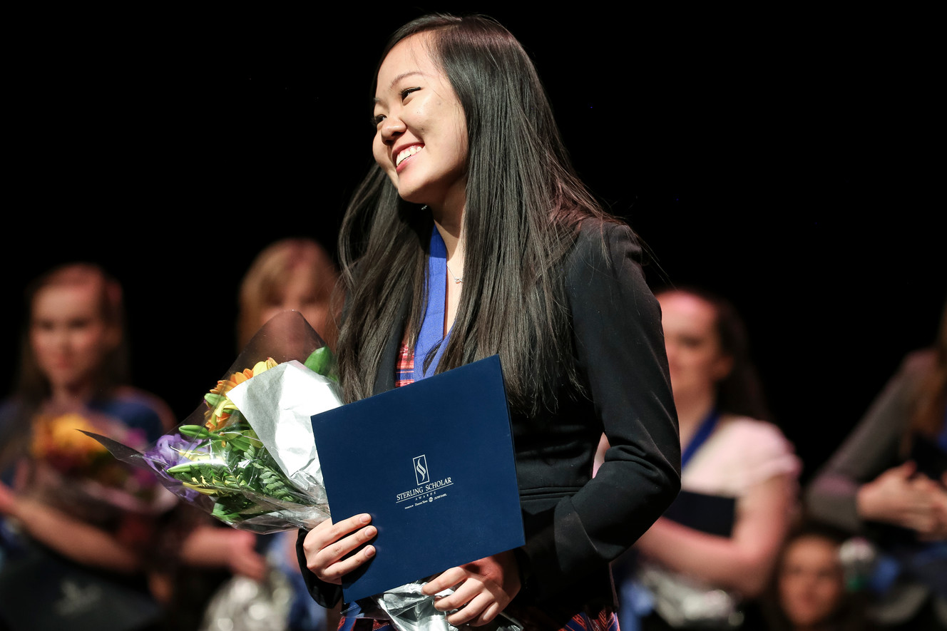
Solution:
{"label": "smiling face of the foreground woman in the black blazer", "polygon": [[428,53],[430,37],[405,38],[384,58],[372,152],[402,199],[440,209],[465,199],[467,123],[450,81]]}

